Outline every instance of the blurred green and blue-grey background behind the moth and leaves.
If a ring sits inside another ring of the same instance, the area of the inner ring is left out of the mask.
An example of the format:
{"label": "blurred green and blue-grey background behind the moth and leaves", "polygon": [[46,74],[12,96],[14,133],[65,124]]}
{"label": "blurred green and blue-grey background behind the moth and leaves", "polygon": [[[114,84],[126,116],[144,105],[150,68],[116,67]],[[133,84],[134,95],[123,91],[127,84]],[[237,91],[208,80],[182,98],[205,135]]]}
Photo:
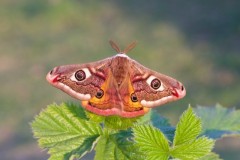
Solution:
{"label": "blurred green and blue-grey background behind the moth and leaves", "polygon": [[[74,101],[45,80],[55,66],[129,56],[183,82],[187,96],[157,111],[175,124],[188,104],[240,108],[240,1],[1,0],[0,159],[43,160],[29,123],[52,102]],[[240,139],[215,146],[240,159]],[[85,157],[87,159],[87,157]]]}

